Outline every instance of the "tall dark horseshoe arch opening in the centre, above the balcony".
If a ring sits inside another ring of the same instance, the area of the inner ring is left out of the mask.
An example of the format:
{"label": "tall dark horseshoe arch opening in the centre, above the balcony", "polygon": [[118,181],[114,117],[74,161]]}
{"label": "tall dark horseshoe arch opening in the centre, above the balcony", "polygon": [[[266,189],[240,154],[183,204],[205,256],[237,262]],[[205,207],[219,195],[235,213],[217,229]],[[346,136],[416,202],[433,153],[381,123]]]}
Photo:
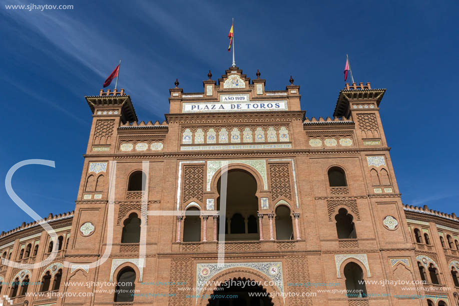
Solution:
{"label": "tall dark horseshoe arch opening in the centre, above the balcony", "polygon": [[[217,191],[221,192],[221,177],[217,181]],[[226,189],[225,240],[259,240],[257,181],[247,171],[228,171]],[[217,210],[220,210],[220,197]]]}

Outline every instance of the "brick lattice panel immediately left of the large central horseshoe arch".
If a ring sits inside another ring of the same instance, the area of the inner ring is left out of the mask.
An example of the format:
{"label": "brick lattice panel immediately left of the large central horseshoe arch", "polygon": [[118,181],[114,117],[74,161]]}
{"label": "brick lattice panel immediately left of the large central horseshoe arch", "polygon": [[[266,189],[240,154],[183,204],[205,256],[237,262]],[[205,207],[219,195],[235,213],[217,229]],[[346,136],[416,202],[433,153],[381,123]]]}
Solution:
{"label": "brick lattice panel immediately left of the large central horseshoe arch", "polygon": [[183,167],[183,203],[190,199],[203,201],[204,166]]}

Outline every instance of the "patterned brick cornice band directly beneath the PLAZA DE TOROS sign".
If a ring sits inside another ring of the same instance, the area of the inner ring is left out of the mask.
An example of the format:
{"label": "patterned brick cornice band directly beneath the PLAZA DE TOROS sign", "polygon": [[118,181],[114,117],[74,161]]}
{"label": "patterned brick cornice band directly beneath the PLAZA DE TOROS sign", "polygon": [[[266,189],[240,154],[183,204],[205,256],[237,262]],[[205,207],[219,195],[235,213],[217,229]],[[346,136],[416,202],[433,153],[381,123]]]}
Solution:
{"label": "patterned brick cornice band directly beneath the PLAZA DE TOROS sign", "polygon": [[304,111],[165,114],[169,124],[302,121]]}

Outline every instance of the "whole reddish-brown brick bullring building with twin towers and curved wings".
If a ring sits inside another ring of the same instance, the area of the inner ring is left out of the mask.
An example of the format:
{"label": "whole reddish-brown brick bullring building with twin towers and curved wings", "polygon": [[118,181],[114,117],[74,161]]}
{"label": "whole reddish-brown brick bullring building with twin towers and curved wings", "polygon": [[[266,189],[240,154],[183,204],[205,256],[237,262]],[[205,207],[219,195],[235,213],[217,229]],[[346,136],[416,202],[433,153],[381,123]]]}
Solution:
{"label": "whole reddish-brown brick bullring building with twin towers and curved wings", "polygon": [[[379,116],[384,89],[347,84],[333,119],[308,119],[293,79],[266,91],[258,72],[208,77],[201,93],[175,83],[163,123],[138,123],[123,90],[86,97],[93,123],[75,212],[46,219],[54,241],[37,222],[2,233],[1,256],[23,264],[0,267],[2,296],[18,305],[459,302],[459,219],[401,203]],[[135,288],[104,284],[117,280]],[[260,284],[215,283],[225,280]],[[394,280],[426,284],[402,290]],[[238,298],[205,295],[214,292]]]}

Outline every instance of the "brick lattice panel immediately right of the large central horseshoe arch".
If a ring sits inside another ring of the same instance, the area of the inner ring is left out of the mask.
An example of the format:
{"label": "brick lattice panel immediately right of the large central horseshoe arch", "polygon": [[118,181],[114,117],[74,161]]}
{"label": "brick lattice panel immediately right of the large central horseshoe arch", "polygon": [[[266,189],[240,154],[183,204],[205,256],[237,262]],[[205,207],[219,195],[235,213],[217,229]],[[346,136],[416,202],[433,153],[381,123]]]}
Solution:
{"label": "brick lattice panel immediately right of the large central horseshoe arch", "polygon": [[269,175],[271,178],[271,198],[274,201],[279,197],[292,199],[290,184],[290,167],[288,164],[270,164]]}

